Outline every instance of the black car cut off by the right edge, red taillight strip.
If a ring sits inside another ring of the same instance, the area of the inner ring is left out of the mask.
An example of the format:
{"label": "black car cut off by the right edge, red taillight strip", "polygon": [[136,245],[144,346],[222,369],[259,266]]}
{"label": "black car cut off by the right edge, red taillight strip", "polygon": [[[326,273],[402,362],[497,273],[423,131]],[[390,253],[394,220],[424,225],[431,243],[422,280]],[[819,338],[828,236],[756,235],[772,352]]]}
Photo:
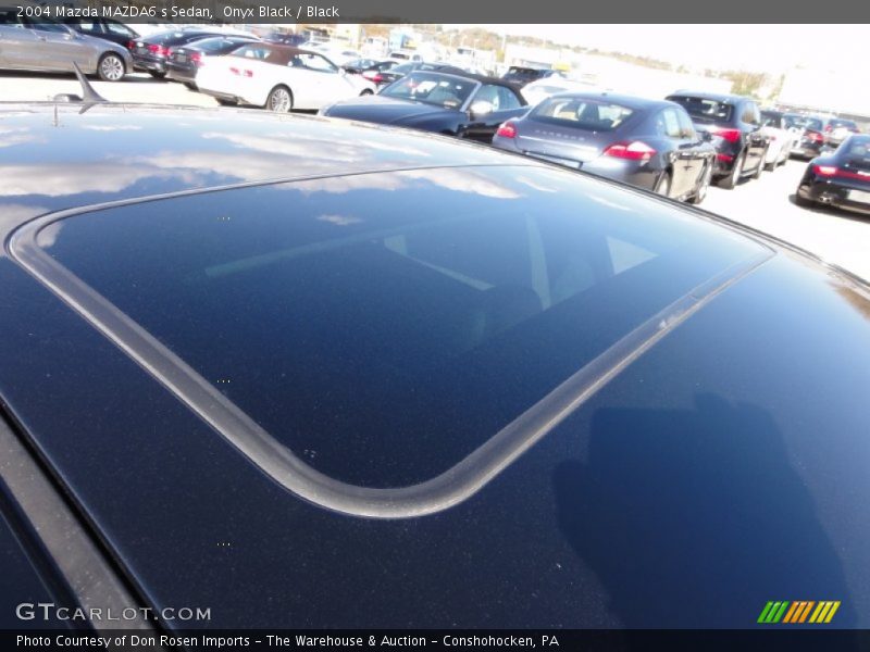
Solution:
{"label": "black car cut off by the right edge, red taillight strip", "polygon": [[849,136],[835,151],[810,161],[795,201],[870,213],[870,136]]}

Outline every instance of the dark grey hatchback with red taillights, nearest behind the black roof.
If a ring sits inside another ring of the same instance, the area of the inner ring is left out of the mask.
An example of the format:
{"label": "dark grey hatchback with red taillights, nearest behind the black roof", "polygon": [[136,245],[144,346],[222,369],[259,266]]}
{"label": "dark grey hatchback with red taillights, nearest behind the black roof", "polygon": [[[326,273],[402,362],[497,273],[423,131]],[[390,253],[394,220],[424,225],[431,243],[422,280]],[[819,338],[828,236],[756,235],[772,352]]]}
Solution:
{"label": "dark grey hatchback with red taillights, nearest behind the black roof", "polygon": [[716,166],[708,140],[674,102],[566,92],[502,124],[493,145],[700,203]]}

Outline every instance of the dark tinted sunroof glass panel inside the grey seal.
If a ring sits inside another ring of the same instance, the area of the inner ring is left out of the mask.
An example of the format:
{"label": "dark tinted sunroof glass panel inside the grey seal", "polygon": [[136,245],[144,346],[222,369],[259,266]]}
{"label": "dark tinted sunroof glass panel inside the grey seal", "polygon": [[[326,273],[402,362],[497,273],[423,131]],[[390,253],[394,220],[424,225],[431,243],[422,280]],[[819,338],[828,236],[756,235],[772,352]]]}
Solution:
{"label": "dark tinted sunroof glass panel inside the grey seal", "polygon": [[450,468],[765,251],[524,165],[164,198],[66,217],[37,242],[299,459],[368,487]]}

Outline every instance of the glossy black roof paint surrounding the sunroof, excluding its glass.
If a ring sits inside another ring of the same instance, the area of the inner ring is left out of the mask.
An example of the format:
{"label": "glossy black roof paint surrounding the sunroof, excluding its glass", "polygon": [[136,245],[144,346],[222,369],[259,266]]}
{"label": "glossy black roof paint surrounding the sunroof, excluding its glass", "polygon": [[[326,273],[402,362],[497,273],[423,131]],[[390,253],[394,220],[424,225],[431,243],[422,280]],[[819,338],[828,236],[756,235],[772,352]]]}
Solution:
{"label": "glossy black roof paint surrounding the sunroof, excluding its glass", "polygon": [[[336,175],[461,164],[445,188],[461,210],[469,188],[494,192],[462,184],[473,166],[508,163],[487,174],[515,187],[543,165],[524,161],[523,175],[515,156],[425,134],[245,111],[18,106],[3,121],[26,139],[0,150],[14,181],[0,197],[4,241],[48,211],[288,170],[325,175],[307,181],[312,195],[328,188],[347,212],[412,211],[415,193],[384,187],[361,202],[353,177]],[[679,223],[717,221],[570,178],[587,197],[572,204],[579,220],[637,202]],[[736,228],[721,237],[746,242]],[[772,260],[472,499],[427,517],[355,518],[298,500],[5,249],[0,399],[144,602],[211,607],[208,627],[746,628],[768,600],[833,599],[834,625],[866,628],[868,288],[767,246]],[[546,373],[529,353],[526,373]]]}

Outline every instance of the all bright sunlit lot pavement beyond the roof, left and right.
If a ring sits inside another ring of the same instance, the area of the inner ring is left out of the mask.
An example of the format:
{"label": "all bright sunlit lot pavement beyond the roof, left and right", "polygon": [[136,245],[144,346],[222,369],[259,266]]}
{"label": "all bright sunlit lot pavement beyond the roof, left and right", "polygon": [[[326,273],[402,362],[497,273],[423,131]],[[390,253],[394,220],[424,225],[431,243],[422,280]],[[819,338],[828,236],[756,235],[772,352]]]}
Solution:
{"label": "all bright sunlit lot pavement beyond the roof, left and right", "polygon": [[[217,105],[213,98],[183,84],[157,80],[145,73],[128,75],[116,84],[91,83],[97,92],[113,102]],[[0,100],[14,101],[44,101],[61,92],[80,92],[71,75],[2,73],[0,88]],[[734,190],[711,188],[704,208],[793,242],[870,280],[870,215],[797,206],[794,191],[805,167],[804,161],[788,161]]]}

